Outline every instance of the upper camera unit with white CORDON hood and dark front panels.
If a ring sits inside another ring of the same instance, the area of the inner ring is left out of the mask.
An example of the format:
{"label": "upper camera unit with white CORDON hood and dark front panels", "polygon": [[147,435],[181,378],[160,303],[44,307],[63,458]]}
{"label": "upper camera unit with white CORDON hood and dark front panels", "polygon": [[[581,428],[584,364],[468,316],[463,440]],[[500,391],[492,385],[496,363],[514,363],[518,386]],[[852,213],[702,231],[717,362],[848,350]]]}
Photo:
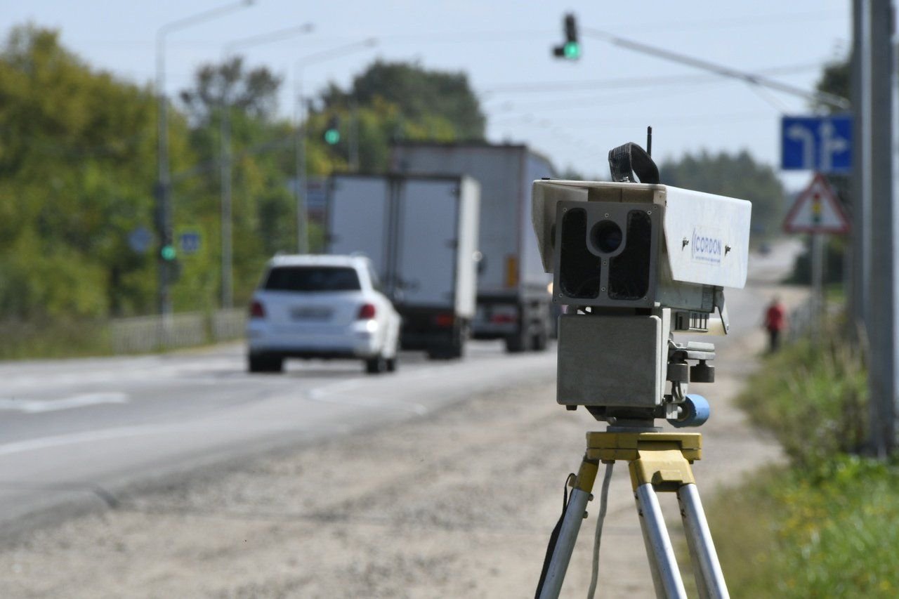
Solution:
{"label": "upper camera unit with white CORDON hood and dark front panels", "polygon": [[556,302],[723,308],[746,282],[752,203],[645,183],[534,182],[532,220]]}

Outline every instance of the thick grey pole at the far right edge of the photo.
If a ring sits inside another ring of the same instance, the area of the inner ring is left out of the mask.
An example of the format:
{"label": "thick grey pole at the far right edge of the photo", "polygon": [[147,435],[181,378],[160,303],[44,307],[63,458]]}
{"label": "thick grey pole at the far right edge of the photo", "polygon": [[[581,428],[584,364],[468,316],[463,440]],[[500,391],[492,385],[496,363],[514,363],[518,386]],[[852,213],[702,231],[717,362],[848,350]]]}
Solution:
{"label": "thick grey pole at the far right edge of the photo", "polygon": [[895,448],[897,385],[896,244],[893,182],[895,75],[890,0],[862,2],[862,185],[870,206],[869,311],[866,318],[871,449],[886,458]]}

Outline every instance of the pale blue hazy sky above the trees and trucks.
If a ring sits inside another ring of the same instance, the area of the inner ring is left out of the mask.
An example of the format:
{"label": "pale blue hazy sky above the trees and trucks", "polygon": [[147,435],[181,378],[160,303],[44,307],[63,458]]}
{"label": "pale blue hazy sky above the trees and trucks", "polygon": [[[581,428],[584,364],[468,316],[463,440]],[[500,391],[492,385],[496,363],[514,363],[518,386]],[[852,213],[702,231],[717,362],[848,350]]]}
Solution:
{"label": "pale blue hazy sky above the trees and trucks", "polygon": [[[161,27],[234,4],[30,0],[4,6],[0,31],[5,35],[27,22],[58,29],[63,44],[93,67],[148,84],[156,77]],[[165,90],[176,94],[189,86],[197,67],[221,60],[230,49],[251,67],[266,66],[284,77],[280,111],[292,116],[298,63],[303,64],[302,89],[310,93],[330,81],[346,87],[376,58],[414,61],[466,72],[487,116],[487,138],[527,143],[559,169],[608,178],[609,149],[628,141],[645,145],[647,125],[653,127],[657,162],[702,150],[745,149],[778,168],[780,116],[811,113],[806,99],[620,48],[587,31],[606,31],[812,90],[823,64],[848,52],[850,4],[256,0],[166,35]],[[551,56],[551,48],[563,39],[565,13],[574,13],[581,29],[578,61]],[[305,23],[312,23],[313,31],[260,41],[260,36]],[[372,47],[357,43],[371,38],[377,40]],[[810,173],[781,175],[792,190],[811,178]]]}

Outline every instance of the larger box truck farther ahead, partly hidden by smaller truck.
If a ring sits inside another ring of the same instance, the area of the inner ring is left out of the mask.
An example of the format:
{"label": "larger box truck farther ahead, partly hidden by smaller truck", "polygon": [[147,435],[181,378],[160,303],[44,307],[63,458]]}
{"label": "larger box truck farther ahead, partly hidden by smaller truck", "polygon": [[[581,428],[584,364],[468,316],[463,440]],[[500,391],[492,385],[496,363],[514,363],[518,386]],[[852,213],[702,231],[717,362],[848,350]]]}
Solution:
{"label": "larger box truck farther ahead, partly hidden by smaller truck", "polygon": [[481,184],[477,312],[472,334],[504,339],[509,352],[543,350],[555,332],[549,289],[530,225],[530,188],[555,176],[549,160],[521,145],[400,142],[391,169],[406,174],[455,173]]}

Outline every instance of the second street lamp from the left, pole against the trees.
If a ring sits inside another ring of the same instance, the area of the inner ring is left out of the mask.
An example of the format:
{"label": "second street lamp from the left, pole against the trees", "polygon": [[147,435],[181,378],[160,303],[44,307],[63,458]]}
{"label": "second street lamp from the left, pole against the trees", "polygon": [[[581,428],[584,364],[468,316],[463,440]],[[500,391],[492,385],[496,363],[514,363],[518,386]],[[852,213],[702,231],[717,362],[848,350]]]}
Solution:
{"label": "second street lamp from the left, pole against the trees", "polygon": [[[298,27],[288,27],[278,31],[271,31],[252,37],[234,40],[222,49],[222,65],[224,66],[230,54],[238,48],[249,48],[271,41],[286,40],[296,35],[313,31],[312,23],[304,23]],[[234,303],[234,290],[231,277],[232,257],[232,218],[231,218],[231,179],[233,163],[231,161],[231,111],[227,98],[227,88],[222,88],[221,115],[218,119],[221,127],[221,245],[222,245],[222,308],[231,308]]]}

